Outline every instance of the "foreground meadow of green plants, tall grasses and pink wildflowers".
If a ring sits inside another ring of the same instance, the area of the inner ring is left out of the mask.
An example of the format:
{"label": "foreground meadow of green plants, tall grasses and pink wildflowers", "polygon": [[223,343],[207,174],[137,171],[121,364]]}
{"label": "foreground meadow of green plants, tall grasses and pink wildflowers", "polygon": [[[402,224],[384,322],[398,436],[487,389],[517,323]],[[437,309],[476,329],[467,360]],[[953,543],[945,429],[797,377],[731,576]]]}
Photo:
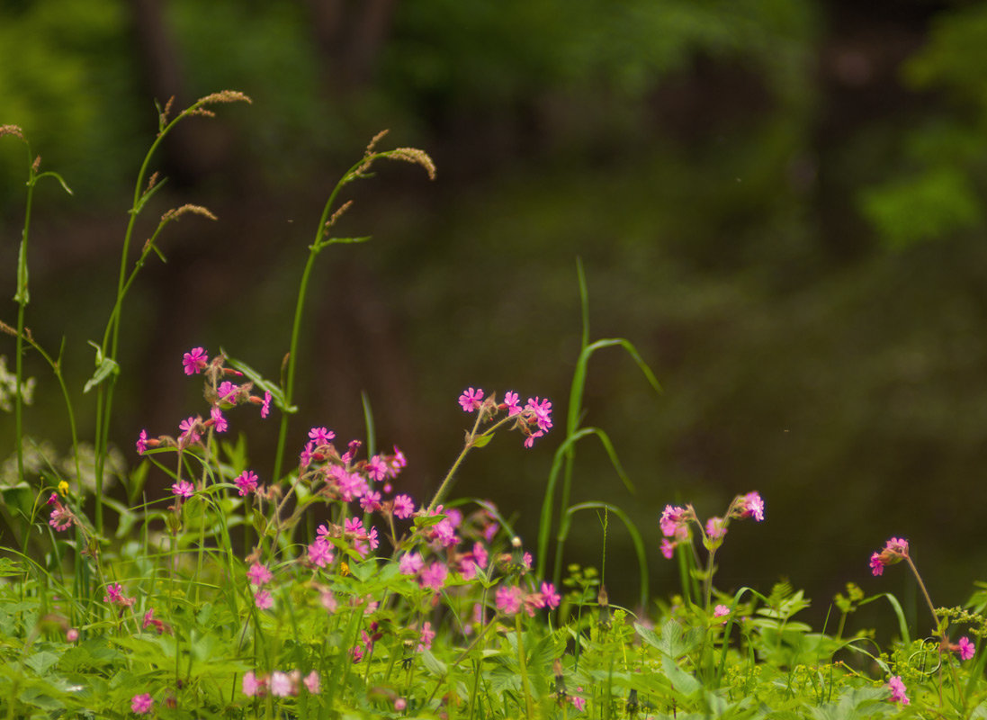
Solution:
{"label": "foreground meadow of green plants, tall grasses and pink wildflowers", "polygon": [[[660,390],[630,342],[590,339],[579,263],[581,344],[562,431],[536,388],[466,388],[458,397],[468,418],[463,448],[430,497],[413,497],[402,471],[414,458],[375,446],[368,405],[366,441],[338,438],[331,419],[305,429],[292,423],[316,259],[331,245],[368,239],[332,235],[350,204],[340,202],[342,190],[385,160],[435,176],[418,149],[377,149],[383,133],[342,174],[316,223],[279,377],[220,348],[190,348],[174,366],[201,387],[200,405],[171,428],[134,429],[132,448],[118,450],[114,387],[133,371],[119,364],[128,290],[152,253],[163,257],[159,241],[171,222],[216,221],[185,204],[164,212],[139,250],[131,247],[138,218],[164,184],[150,172],[155,151],[178,122],[249,102],[227,91],[175,117],[171,103],[159,109],[108,321],[90,342],[96,369],[81,393],[62,374],[64,343],[57,353],[42,348],[28,324],[34,191],[44,179],[69,186],[41,171],[21,127],[0,126],[0,139],[22,143],[27,158],[16,319],[0,322],[13,357],[13,371],[0,357],[0,409],[13,414],[16,445],[0,477],[0,718],[987,717],[987,656],[977,649],[987,586],[965,606],[937,606],[907,540],[888,540],[870,566],[874,575],[909,567],[929,606],[926,629],[913,637],[893,596],[866,597],[849,584],[826,626],[813,630],[797,619],[809,600],[787,583],[716,586],[730,524],[766,519],[756,491],[706,520],[691,505],[655,509],[659,547],[645,544],[613,499],[571,503],[580,440],[599,441],[635,491],[607,434],[581,425],[590,358],[622,348],[645,375],[643,389]],[[26,376],[32,355],[57,384],[72,441],[66,455],[26,430],[27,408],[46,382]],[[79,437],[80,411],[94,413],[91,441]],[[237,430],[255,412],[276,426],[267,477]],[[464,458],[511,433],[532,451],[555,446],[534,548],[492,503],[453,493]],[[620,520],[629,533],[640,568],[636,608],[609,601],[605,566],[566,564],[574,523],[589,521],[584,511],[605,527]],[[650,595],[655,553],[678,568],[675,597]],[[867,628],[848,627],[875,601],[897,619],[898,637],[886,648]]]}

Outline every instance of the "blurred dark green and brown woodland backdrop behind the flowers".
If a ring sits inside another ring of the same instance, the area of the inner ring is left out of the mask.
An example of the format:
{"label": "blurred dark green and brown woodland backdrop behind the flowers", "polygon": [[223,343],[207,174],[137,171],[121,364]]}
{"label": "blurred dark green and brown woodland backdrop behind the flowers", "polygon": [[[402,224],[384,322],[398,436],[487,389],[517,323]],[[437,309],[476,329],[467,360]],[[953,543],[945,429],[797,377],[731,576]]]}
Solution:
{"label": "blurred dark green and brown woodland backdrop behind the flowers", "polygon": [[[138,241],[187,201],[219,221],[172,225],[169,262],[152,260],[128,300],[114,425],[128,464],[141,428],[174,433],[201,411],[190,347],[277,376],[322,203],[389,127],[381,146],[423,148],[438,180],[391,164],[347,189],[339,233],[374,239],[320,258],[290,446],[311,424],[362,437],[366,391],[421,497],[458,451],[468,385],[549,396],[561,430],[579,257],[591,336],[632,341],[664,393],[621,352],[597,354],[584,422],[610,434],[638,494],[587,443],[573,502],[632,514],[655,594],[677,587],[657,550],[663,506],[717,515],[755,489],[767,520],[731,528],[724,589],[786,577],[818,617],[848,581],[907,599],[904,571],[868,572],[892,534],[937,602],[987,578],[987,4],[4,0],[0,123],[75,191],[38,193],[28,324],[52,351],[65,338],[76,387],[114,297],[154,100],[222,89],[253,106],[190,120],[155,160],[170,180]],[[5,298],[25,163],[0,142]],[[56,385],[28,366],[28,431],[64,450]],[[91,398],[77,403],[91,438]],[[247,415],[233,420],[263,474],[273,427]],[[9,416],[0,431],[7,457]],[[560,440],[498,438],[456,493],[516,516],[533,548]],[[567,560],[599,566],[599,521],[575,534]],[[633,602],[614,522],[606,563],[611,598]]]}

